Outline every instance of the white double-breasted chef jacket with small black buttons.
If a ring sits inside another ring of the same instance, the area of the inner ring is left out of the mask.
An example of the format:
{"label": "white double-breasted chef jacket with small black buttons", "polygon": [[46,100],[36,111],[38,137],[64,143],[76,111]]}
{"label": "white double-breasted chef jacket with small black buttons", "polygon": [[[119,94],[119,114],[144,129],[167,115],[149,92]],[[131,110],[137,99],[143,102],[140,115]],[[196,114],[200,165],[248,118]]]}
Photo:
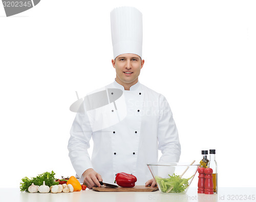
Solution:
{"label": "white double-breasted chef jacket with small black buttons", "polygon": [[[140,82],[131,86],[130,91],[116,81],[105,86],[109,88],[123,91],[118,100],[123,99],[125,105],[116,100],[115,104],[104,106],[110,111],[107,116],[91,111],[77,113],[68,144],[70,160],[81,182],[82,173],[93,168],[105,183],[113,184],[116,173],[126,172],[137,177],[136,185],[145,185],[153,178],[147,164],[158,162],[158,149],[162,152],[159,163],[179,161],[181,147],[172,111],[164,96]],[[120,111],[126,113],[123,119]],[[119,118],[118,123],[94,130],[94,125],[100,124],[98,120],[115,117]],[[94,147],[90,159],[87,149],[91,138]]]}

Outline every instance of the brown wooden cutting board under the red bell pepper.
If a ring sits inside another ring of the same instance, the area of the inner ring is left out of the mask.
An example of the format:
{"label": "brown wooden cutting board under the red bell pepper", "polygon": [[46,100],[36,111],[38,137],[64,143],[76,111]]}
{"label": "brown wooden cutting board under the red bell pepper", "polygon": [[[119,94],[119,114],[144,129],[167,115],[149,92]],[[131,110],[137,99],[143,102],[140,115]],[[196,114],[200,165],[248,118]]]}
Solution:
{"label": "brown wooden cutting board under the red bell pepper", "polygon": [[134,192],[134,191],[140,191],[140,192],[145,192],[145,191],[156,191],[158,190],[158,187],[145,187],[145,186],[135,186],[135,187],[131,187],[131,188],[126,188],[126,187],[117,187],[117,188],[110,188],[110,187],[105,187],[105,186],[101,186],[101,187],[93,187],[94,191],[109,191],[109,192],[119,192],[119,191],[123,191],[123,192]]}

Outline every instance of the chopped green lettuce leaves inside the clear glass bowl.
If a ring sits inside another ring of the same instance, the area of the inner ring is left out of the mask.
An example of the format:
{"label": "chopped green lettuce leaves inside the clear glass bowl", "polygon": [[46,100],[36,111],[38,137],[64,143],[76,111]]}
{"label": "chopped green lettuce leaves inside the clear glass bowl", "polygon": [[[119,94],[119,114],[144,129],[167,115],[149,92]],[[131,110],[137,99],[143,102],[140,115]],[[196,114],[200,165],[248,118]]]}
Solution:
{"label": "chopped green lettuce leaves inside the clear glass bowl", "polygon": [[172,176],[169,175],[168,178],[161,178],[159,176],[155,176],[155,179],[159,186],[158,188],[162,192],[181,193],[184,192],[185,189],[188,187],[188,180],[191,179],[193,176],[189,178],[180,178],[180,175],[173,174]]}

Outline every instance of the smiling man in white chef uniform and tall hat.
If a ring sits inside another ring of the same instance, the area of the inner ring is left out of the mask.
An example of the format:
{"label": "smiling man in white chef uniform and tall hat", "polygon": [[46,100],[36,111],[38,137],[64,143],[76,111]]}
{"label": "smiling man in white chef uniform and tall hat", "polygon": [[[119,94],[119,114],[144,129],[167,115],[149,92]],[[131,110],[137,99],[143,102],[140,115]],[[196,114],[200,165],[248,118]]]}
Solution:
{"label": "smiling man in white chef uniform and tall hat", "polygon": [[[178,131],[165,97],[138,80],[144,64],[141,12],[115,8],[111,32],[116,78],[81,104],[84,110],[77,113],[70,131],[70,160],[89,189],[100,187],[99,181],[113,184],[119,172],[135,175],[136,185],[155,186],[147,164],[179,161]],[[158,150],[162,152],[159,161]]]}

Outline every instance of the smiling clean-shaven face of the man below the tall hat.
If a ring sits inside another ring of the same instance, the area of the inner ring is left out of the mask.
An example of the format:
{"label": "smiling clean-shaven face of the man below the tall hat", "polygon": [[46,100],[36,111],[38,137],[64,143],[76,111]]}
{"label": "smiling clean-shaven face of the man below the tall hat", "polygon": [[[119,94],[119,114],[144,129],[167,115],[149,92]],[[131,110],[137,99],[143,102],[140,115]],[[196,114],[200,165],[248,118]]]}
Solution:
{"label": "smiling clean-shaven face of the man below the tall hat", "polygon": [[125,87],[130,87],[138,82],[140,70],[144,64],[140,56],[135,54],[121,54],[112,59],[113,67],[116,69],[116,82]]}

